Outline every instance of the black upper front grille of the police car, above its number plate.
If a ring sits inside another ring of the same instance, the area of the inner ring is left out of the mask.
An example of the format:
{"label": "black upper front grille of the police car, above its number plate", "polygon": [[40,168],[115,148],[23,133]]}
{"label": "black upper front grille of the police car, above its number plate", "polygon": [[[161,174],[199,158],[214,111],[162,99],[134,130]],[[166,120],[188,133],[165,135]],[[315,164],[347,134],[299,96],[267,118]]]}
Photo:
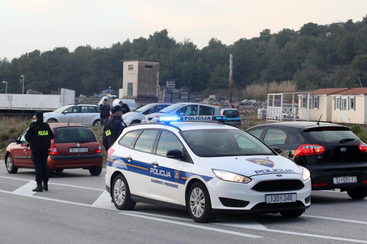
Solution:
{"label": "black upper front grille of the police car, above its number plate", "polygon": [[271,180],[260,181],[251,189],[257,192],[284,192],[297,191],[304,187],[305,185],[300,180]]}

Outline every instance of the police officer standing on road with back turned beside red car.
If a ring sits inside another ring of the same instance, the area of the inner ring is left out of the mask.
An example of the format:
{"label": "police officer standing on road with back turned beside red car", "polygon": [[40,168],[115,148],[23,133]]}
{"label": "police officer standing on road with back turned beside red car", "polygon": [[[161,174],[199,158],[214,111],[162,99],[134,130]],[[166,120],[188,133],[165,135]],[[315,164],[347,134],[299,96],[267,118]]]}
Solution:
{"label": "police officer standing on road with back turned beside red car", "polygon": [[29,125],[29,129],[24,137],[29,143],[31,159],[34,170],[36,171],[37,186],[32,191],[42,192],[42,190],[48,191],[47,158],[51,147],[51,140],[55,137],[48,123],[43,122],[43,112],[36,111],[35,116],[36,122]]}

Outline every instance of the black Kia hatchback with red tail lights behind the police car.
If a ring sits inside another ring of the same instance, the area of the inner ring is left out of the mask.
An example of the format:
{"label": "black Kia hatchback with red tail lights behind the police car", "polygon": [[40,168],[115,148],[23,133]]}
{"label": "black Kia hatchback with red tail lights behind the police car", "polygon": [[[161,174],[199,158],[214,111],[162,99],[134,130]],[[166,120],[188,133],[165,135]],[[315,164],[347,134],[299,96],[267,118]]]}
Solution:
{"label": "black Kia hatchback with red tail lights behind the police car", "polygon": [[257,125],[247,131],[306,167],[312,190],[337,188],[353,199],[367,196],[367,144],[348,127],[297,121]]}

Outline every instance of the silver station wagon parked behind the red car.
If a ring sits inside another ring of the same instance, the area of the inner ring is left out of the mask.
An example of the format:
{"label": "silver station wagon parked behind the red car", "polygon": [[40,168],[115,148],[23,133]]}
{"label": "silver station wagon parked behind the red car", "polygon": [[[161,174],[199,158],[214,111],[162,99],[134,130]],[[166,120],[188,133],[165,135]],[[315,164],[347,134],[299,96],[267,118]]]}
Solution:
{"label": "silver station wagon parked behind the red car", "polygon": [[[93,104],[69,104],[55,111],[43,114],[43,121],[47,123],[77,123],[81,125],[101,124],[99,106]],[[33,117],[33,121],[34,121]]]}

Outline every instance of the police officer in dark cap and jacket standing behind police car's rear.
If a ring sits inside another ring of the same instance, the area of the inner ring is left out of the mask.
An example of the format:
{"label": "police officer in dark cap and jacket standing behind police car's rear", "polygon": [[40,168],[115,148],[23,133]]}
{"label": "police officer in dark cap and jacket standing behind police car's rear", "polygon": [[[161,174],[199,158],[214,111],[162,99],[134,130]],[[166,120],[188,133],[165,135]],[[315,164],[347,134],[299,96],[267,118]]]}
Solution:
{"label": "police officer in dark cap and jacket standing behind police car's rear", "polygon": [[121,119],[123,111],[126,109],[120,107],[119,105],[113,106],[111,108],[112,117],[107,121],[105,127],[103,127],[103,137],[102,145],[105,147],[106,152],[120,136],[123,129],[127,127],[126,123]]}

